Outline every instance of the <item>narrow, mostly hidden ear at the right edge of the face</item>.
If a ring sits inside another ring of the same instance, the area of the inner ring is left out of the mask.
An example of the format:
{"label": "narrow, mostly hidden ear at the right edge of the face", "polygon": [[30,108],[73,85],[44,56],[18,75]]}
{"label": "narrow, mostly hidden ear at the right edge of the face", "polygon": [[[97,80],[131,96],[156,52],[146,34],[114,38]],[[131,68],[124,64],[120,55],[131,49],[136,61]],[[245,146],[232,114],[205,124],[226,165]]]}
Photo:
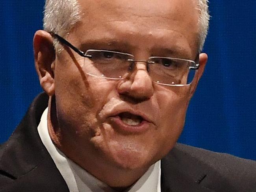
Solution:
{"label": "narrow, mostly hidden ear at the right edge of the face", "polygon": [[199,54],[199,68],[197,70],[197,75],[196,75],[195,79],[191,83],[190,98],[193,96],[193,94],[197,88],[198,81],[204,72],[204,67],[205,67],[207,61],[208,61],[207,54],[205,54],[205,53]]}

